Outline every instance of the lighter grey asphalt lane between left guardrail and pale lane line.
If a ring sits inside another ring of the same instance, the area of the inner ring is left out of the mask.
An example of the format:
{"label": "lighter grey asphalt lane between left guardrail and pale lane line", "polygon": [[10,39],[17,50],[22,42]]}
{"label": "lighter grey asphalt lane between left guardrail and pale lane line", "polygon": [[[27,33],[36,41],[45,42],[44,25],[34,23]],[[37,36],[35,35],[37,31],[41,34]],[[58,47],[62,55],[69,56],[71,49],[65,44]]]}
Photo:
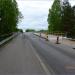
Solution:
{"label": "lighter grey asphalt lane between left guardrail and pale lane line", "polygon": [[21,34],[0,48],[0,75],[47,75],[30,41]]}

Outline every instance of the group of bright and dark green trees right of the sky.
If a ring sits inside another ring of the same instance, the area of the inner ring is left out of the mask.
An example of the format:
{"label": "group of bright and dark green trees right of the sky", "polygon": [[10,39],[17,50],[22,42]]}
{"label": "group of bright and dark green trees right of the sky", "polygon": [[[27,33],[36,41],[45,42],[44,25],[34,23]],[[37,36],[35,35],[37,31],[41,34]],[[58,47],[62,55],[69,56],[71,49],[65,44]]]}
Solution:
{"label": "group of bright and dark green trees right of the sky", "polygon": [[75,6],[71,7],[69,2],[61,6],[60,0],[55,0],[49,9],[48,24],[49,32],[62,32],[75,38]]}

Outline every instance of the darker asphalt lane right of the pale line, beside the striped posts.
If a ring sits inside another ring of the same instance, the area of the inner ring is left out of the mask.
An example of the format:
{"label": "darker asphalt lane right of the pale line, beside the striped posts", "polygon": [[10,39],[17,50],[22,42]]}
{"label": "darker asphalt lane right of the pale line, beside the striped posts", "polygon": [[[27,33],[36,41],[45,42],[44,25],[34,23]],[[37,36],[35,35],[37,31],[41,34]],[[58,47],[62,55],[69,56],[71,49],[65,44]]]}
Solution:
{"label": "darker asphalt lane right of the pale line, beside the striped posts", "polygon": [[25,34],[54,75],[75,75],[75,56],[31,33]]}

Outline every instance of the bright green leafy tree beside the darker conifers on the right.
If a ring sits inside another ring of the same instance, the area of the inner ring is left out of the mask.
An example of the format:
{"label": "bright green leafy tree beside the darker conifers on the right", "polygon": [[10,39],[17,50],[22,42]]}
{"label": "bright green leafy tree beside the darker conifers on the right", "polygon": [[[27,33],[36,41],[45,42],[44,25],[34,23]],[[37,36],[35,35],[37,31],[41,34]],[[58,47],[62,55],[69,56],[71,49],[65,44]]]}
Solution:
{"label": "bright green leafy tree beside the darker conifers on the right", "polygon": [[58,32],[61,30],[61,6],[60,0],[54,0],[52,8],[48,14],[49,32]]}

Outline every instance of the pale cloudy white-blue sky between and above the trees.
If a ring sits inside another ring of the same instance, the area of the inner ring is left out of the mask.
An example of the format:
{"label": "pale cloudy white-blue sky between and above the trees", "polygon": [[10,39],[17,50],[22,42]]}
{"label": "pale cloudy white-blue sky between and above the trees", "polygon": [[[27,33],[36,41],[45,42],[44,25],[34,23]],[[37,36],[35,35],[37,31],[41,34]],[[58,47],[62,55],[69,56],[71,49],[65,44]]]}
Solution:
{"label": "pale cloudy white-blue sky between and above the trees", "polygon": [[[48,13],[54,0],[17,0],[18,8],[23,19],[18,23],[18,28],[23,29],[48,29]],[[70,0],[75,5],[75,0]]]}

